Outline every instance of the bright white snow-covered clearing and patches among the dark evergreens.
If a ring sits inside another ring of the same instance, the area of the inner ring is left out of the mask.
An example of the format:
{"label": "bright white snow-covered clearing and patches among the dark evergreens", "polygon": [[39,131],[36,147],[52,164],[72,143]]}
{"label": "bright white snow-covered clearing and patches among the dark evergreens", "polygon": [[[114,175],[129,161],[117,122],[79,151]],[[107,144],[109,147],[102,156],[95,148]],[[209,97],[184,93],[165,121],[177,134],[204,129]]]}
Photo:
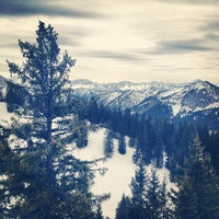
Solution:
{"label": "bright white snow-covered clearing and patches among the dark evergreens", "polygon": [[[13,114],[8,113],[5,103],[0,103],[0,123],[2,119],[10,122]],[[94,160],[104,158],[103,141],[106,129],[99,128],[97,131],[89,132],[89,143],[83,149],[77,149],[74,145],[68,147],[70,151],[81,160]],[[127,141],[128,142],[128,141]],[[111,198],[103,203],[103,215],[111,219],[115,218],[115,210],[123,193],[130,195],[129,184],[135,174],[135,164],[132,163],[134,148],[129,148],[127,143],[126,154],[122,155],[117,150],[118,142],[114,140],[114,154],[105,162],[99,162],[96,168],[106,168],[107,172],[104,175],[96,174],[92,192],[95,195],[111,193]],[[152,169],[152,164],[148,166],[148,172]],[[169,187],[175,187],[170,182],[170,172],[166,169],[158,170],[160,180],[165,177]]]}

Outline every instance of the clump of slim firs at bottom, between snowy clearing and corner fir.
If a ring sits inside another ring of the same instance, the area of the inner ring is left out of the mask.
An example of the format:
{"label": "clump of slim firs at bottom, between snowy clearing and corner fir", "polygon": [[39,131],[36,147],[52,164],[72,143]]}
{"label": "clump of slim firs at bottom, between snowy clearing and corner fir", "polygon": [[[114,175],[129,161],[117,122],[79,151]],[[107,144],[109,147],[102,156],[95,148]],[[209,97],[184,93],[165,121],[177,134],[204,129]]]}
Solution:
{"label": "clump of slim firs at bottom, between snowy clearing and corner fir", "polygon": [[157,172],[146,171],[142,159],[138,162],[135,177],[131,180],[131,197],[122,197],[116,209],[116,219],[171,219],[173,206],[166,182],[159,182]]}

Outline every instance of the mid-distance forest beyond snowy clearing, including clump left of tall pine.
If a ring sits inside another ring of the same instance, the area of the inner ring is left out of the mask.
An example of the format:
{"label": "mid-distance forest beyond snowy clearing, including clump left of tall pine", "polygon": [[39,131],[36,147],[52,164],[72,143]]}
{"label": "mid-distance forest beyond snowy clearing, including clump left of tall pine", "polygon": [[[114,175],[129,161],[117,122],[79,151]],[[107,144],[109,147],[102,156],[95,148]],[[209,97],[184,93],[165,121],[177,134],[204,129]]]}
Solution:
{"label": "mid-distance forest beyond snowy clearing, including clump left of tall pine", "polygon": [[[74,113],[80,118],[77,123],[76,142],[79,148],[88,145],[88,127],[84,119],[92,124],[103,124],[110,131],[104,142],[106,157],[111,157],[111,138],[118,139],[119,152],[126,153],[125,136],[129,137],[129,146],[135,147],[134,161],[143,154],[147,164],[153,162],[158,168],[165,165],[171,171],[172,180],[183,166],[188,155],[188,143],[198,134],[205,150],[211,155],[211,163],[219,173],[219,131],[209,130],[208,127],[195,126],[187,122],[173,122],[163,117],[147,117],[131,114],[130,110],[115,110],[99,105],[95,99],[81,100],[69,90],[70,107],[54,108],[57,115],[61,112]],[[5,101],[9,112],[25,104],[23,96],[27,91],[20,84],[8,82]],[[108,153],[108,154],[107,154]]]}

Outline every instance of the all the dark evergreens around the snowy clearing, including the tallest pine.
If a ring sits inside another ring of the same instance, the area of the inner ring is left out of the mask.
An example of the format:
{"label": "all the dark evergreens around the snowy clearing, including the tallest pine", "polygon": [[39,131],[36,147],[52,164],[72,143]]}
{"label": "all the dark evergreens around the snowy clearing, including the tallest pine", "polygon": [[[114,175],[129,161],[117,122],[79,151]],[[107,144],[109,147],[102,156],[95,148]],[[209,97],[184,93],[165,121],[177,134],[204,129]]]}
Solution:
{"label": "all the dark evergreens around the snowy clearing, including the tallest pine", "polygon": [[[91,193],[102,159],[82,161],[71,152],[88,145],[90,128],[105,127],[103,150],[111,159],[113,140],[126,154],[135,149],[131,195],[123,194],[116,219],[218,219],[219,130],[158,116],[112,111],[95,99],[74,96],[69,72],[76,64],[61,53],[58,34],[39,21],[36,42],[19,39],[23,65],[7,60],[12,78],[5,102],[15,115],[0,126],[0,215],[16,219],[104,219],[110,194]],[[147,165],[154,169],[148,171]],[[166,168],[177,189],[159,181]]]}

